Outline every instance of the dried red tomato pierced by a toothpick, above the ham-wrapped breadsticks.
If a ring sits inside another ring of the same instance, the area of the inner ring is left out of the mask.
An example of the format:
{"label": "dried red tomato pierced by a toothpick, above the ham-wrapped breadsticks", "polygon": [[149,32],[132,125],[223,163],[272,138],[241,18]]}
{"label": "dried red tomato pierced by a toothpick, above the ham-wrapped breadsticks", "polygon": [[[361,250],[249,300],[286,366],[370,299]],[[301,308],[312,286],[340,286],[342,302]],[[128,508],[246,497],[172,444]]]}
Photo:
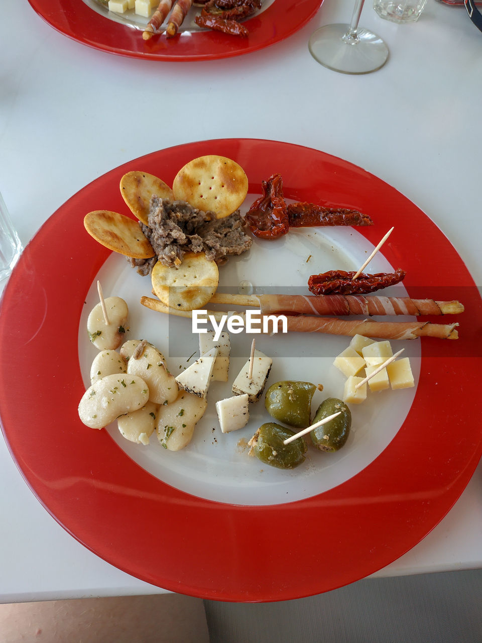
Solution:
{"label": "dried red tomato pierced by a toothpick, above the ham-wrapped breadsticks", "polygon": [[360,273],[353,279],[356,271],[330,270],[321,275],[312,275],[308,279],[308,289],[313,294],[366,294],[398,284],[405,276],[405,271],[397,268],[394,273],[377,273],[367,275]]}

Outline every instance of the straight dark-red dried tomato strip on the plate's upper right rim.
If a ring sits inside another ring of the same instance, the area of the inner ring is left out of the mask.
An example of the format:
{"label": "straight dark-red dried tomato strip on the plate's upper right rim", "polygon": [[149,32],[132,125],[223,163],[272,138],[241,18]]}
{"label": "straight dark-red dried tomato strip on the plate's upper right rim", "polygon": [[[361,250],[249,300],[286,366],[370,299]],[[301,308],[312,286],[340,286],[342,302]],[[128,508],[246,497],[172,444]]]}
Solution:
{"label": "straight dark-red dried tomato strip on the plate's upper right rim", "polygon": [[311,226],[373,226],[368,214],[346,208],[325,208],[314,203],[291,203],[288,206],[290,228]]}

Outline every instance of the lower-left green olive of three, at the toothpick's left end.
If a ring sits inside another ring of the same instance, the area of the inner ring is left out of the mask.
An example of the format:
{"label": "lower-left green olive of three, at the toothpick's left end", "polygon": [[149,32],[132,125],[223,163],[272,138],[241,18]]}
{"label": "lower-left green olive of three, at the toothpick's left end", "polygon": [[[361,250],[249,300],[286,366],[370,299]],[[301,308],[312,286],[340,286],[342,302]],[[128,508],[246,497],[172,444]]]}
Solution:
{"label": "lower-left green olive of three, at the toothpick's left end", "polygon": [[249,446],[256,458],[278,469],[294,469],[305,460],[307,444],[303,438],[298,438],[289,444],[283,444],[283,440],[295,435],[294,431],[275,424],[266,422],[254,433]]}

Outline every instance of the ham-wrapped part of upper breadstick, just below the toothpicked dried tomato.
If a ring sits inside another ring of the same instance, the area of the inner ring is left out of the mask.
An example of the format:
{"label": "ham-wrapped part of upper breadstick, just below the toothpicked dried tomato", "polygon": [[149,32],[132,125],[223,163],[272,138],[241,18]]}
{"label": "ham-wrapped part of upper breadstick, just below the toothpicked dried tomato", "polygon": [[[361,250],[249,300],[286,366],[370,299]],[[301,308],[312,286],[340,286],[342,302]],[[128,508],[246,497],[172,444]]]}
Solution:
{"label": "ham-wrapped part of upper breadstick, just below the toothpicked dried tomato", "polygon": [[363,295],[343,294],[260,294],[256,298],[262,314],[420,316],[463,312],[463,305],[457,301],[436,302],[433,299],[384,297],[380,295],[366,297]]}

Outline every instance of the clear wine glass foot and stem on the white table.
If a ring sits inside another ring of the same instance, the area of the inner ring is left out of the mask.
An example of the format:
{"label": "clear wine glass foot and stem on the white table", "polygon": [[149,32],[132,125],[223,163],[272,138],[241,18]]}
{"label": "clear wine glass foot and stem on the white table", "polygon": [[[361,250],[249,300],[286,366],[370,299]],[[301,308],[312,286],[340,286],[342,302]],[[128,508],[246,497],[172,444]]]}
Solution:
{"label": "clear wine glass foot and stem on the white table", "polygon": [[368,74],[388,59],[388,47],[375,33],[359,28],[364,0],[355,0],[350,24],[326,24],[312,33],[308,48],[317,62],[344,74]]}

